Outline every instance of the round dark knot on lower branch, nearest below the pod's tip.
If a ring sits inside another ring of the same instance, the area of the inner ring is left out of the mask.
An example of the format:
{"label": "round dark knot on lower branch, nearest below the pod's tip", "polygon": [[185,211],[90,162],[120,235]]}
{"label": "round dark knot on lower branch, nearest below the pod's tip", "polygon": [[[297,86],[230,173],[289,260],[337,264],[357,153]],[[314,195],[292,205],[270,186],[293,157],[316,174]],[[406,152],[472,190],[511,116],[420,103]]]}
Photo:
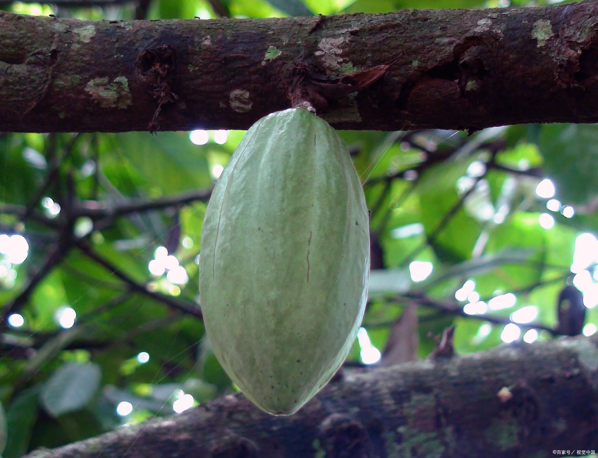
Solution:
{"label": "round dark knot on lower branch, nearest below the pod's tip", "polygon": [[367,458],[369,435],[358,421],[332,414],[321,423],[319,439],[327,458]]}

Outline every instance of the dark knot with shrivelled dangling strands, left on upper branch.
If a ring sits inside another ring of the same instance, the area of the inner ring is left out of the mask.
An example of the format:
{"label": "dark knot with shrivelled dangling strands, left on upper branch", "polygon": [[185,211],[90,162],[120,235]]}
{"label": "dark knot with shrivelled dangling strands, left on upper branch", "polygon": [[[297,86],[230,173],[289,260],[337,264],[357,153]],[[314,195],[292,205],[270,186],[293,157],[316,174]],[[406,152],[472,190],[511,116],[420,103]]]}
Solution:
{"label": "dark knot with shrivelled dangling strands, left on upper branch", "polygon": [[162,105],[167,102],[178,100],[178,96],[172,91],[176,77],[177,53],[176,49],[169,44],[147,49],[139,56],[141,71],[151,86],[149,93],[157,99],[158,107],[155,109],[154,117],[148,125],[148,130],[154,133],[160,129],[157,118]]}

